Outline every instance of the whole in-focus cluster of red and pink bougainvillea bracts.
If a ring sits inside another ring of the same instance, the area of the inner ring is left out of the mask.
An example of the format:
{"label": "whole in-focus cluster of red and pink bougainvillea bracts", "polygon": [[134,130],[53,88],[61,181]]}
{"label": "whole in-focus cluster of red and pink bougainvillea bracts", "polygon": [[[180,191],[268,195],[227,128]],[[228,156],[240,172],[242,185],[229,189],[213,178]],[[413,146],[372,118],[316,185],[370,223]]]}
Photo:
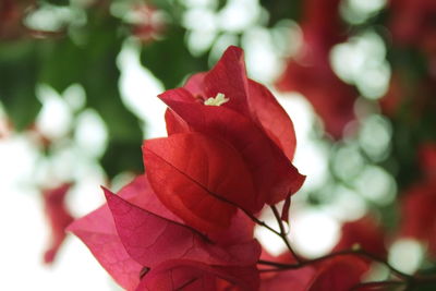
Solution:
{"label": "whole in-focus cluster of red and pink bougainvillea bracts", "polygon": [[[348,290],[360,282],[368,263],[359,256],[313,264],[294,253],[272,258],[254,239],[255,223],[263,225],[257,214],[268,205],[278,221],[286,219],[305,177],[292,165],[292,121],[265,86],[246,77],[241,49],[230,47],[211,71],[159,97],[169,107],[168,137],[144,142],[146,174],[118,195],[104,189],[107,204],[69,227],[118,283]],[[279,214],[275,204],[283,201]]]}

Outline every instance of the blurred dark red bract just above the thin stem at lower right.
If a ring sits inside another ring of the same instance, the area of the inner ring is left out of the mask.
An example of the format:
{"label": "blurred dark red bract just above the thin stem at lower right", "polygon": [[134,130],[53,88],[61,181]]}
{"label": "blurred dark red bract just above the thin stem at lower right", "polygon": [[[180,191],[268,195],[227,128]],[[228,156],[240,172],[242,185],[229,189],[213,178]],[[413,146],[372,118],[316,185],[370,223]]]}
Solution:
{"label": "blurred dark red bract just above the thin stem at lower right", "polygon": [[363,217],[355,221],[342,225],[342,233],[332,252],[351,250],[355,244],[365,252],[386,258],[385,235],[376,221],[370,217]]}

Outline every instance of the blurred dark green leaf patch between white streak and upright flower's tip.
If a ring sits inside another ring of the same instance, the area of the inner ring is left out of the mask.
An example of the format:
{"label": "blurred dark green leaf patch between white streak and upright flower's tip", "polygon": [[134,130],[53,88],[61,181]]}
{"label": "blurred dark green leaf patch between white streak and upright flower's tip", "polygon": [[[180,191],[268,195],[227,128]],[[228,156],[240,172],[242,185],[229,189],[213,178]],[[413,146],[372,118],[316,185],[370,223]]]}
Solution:
{"label": "blurred dark green leaf patch between white streak and upright flower's tip", "polygon": [[168,27],[165,39],[145,45],[141,51],[141,62],[166,88],[177,87],[192,72],[208,69],[207,56],[194,58],[187,50],[184,33],[181,27]]}

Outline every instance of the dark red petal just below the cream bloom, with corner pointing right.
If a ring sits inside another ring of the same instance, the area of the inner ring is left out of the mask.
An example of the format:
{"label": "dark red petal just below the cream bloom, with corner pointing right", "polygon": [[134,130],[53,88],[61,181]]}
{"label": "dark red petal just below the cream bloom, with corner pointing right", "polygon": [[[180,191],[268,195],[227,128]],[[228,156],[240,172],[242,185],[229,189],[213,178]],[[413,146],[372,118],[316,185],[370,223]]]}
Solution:
{"label": "dark red petal just below the cream bloom, with corner pointing right", "polygon": [[[183,92],[180,88],[171,94]],[[305,177],[298,172],[280,148],[250,119],[222,106],[178,102],[167,93],[159,97],[193,130],[218,136],[240,153],[258,193],[256,211],[265,203],[272,205],[284,199],[303,184]]]}

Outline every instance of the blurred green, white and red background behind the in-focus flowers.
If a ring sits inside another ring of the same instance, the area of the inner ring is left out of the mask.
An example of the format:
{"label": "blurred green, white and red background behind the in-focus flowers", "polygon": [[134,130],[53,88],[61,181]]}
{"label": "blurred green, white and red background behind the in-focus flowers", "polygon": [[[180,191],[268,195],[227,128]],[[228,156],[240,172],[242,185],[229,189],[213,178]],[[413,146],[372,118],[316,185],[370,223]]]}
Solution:
{"label": "blurred green, white and red background behind the in-focus flowers", "polygon": [[144,170],[156,96],[230,45],[294,122],[295,250],[436,270],[436,1],[0,0],[0,289],[119,290],[63,228]]}

